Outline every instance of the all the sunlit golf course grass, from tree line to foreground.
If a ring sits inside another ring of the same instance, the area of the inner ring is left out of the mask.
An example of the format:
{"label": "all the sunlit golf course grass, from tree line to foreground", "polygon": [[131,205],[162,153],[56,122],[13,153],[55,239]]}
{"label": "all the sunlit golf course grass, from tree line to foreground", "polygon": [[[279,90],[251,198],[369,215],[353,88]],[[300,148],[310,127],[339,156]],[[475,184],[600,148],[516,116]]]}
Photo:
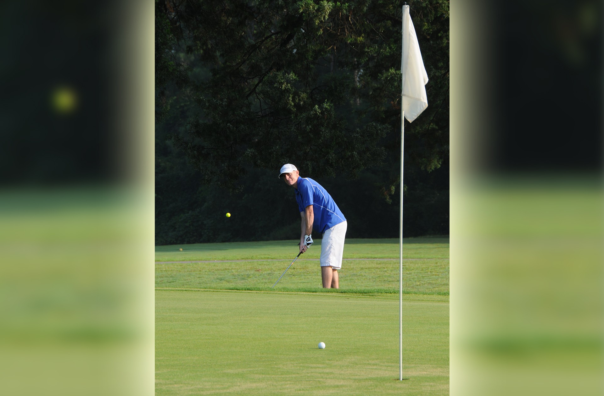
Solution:
{"label": "all the sunlit golf course grass, from tree line to foreground", "polygon": [[296,240],[156,246],[156,395],[449,394],[448,238],[403,242],[403,381],[399,240],[347,240],[337,290],[315,243],[274,288]]}

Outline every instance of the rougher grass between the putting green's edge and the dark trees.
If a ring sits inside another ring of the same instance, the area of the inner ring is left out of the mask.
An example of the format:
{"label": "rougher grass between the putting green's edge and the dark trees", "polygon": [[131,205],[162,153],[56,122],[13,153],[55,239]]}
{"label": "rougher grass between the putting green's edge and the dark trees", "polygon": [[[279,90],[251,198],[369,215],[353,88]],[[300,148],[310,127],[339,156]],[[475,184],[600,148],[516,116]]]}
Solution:
{"label": "rougher grass between the putting green's edge and the dark trees", "polygon": [[[183,245],[182,249],[181,252],[175,246],[156,248],[156,287],[273,290],[272,286],[297,254],[292,241],[193,244]],[[448,250],[446,238],[405,240],[403,293],[448,295]],[[275,290],[323,291],[318,264],[320,251],[319,243],[311,246],[290,267]],[[397,239],[347,240],[339,271],[339,292],[398,293],[398,255]]]}

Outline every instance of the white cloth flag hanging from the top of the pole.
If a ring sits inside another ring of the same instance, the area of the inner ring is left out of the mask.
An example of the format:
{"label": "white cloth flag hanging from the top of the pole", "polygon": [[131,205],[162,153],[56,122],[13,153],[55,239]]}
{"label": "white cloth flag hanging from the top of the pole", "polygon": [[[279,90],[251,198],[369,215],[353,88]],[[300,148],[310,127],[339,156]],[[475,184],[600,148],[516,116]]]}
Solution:
{"label": "white cloth flag hanging from the top of the pole", "polygon": [[400,62],[400,72],[403,75],[402,105],[405,118],[411,123],[428,107],[425,87],[428,83],[428,74],[423,67],[422,53],[419,51],[408,5],[403,5],[402,36],[403,55]]}

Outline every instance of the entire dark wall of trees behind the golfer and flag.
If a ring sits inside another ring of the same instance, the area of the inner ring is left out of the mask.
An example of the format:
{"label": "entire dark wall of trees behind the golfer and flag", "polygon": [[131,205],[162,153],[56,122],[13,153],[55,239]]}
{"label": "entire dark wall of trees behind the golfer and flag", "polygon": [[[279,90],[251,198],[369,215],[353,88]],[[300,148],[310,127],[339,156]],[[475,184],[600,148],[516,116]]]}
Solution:
{"label": "entire dark wall of trees behind the golfer and flag", "polygon": [[[407,3],[429,106],[405,124],[403,233],[448,234],[449,2]],[[156,243],[295,239],[286,162],[348,237],[396,237],[402,4],[156,1]]]}

